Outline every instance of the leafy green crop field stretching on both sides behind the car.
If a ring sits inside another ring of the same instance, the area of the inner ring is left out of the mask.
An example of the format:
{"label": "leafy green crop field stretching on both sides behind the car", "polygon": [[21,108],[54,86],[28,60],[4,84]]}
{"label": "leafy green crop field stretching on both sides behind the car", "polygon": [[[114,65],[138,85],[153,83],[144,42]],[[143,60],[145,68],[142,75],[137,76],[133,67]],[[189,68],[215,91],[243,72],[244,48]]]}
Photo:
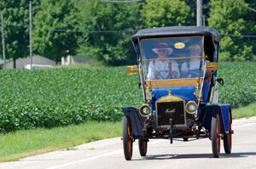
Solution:
{"label": "leafy green crop field stretching on both sides behind the car", "polygon": [[[233,108],[256,101],[256,63],[222,63],[219,100]],[[0,71],[0,132],[86,121],[119,121],[120,107],[143,104],[126,67]]]}

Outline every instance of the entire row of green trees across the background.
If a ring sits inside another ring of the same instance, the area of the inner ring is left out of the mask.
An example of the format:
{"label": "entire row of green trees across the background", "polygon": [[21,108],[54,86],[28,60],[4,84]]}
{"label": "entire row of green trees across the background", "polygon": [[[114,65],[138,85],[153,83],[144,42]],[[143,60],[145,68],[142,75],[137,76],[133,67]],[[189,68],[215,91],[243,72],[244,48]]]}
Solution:
{"label": "entire row of green trees across the background", "polygon": [[[28,4],[29,0],[0,2],[9,59],[29,54]],[[255,59],[256,38],[250,36],[256,34],[255,8],[254,0],[203,0],[206,25],[222,34],[220,59]],[[132,64],[136,57],[131,36],[137,30],[196,25],[195,15],[196,0],[33,0],[33,53],[56,63],[62,56],[81,54],[105,65]],[[0,52],[2,56],[2,48]]]}

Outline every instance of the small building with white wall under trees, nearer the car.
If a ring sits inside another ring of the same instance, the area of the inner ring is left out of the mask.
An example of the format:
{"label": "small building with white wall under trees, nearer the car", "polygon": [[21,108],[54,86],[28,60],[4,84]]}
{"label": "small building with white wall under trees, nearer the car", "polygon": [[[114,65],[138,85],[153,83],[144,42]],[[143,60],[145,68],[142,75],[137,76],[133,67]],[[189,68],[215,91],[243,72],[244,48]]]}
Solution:
{"label": "small building with white wall under trees, nearer the car", "polygon": [[86,64],[90,61],[82,55],[71,56],[61,58],[61,65],[74,65],[74,64]]}

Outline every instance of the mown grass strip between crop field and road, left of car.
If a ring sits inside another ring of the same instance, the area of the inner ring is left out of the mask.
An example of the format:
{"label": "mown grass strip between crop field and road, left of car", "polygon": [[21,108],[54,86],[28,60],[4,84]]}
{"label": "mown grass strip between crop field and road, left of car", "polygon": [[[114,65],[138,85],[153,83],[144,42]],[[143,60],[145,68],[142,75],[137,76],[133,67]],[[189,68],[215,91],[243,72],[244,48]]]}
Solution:
{"label": "mown grass strip between crop field and road, left of car", "polygon": [[119,137],[121,122],[88,122],[52,129],[20,130],[0,134],[0,161],[16,161],[22,157],[56,149],[70,149],[91,141]]}

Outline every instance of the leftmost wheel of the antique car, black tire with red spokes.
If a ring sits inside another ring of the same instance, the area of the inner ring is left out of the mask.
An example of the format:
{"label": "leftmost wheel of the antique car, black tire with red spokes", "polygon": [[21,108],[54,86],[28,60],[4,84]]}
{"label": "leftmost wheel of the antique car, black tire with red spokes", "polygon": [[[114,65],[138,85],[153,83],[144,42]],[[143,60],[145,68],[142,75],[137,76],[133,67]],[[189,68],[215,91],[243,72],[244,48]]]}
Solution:
{"label": "leftmost wheel of the antique car, black tire with red spokes", "polygon": [[123,121],[123,147],[124,147],[124,154],[125,160],[131,161],[132,156],[132,128],[131,128],[131,121],[129,117],[124,116]]}

